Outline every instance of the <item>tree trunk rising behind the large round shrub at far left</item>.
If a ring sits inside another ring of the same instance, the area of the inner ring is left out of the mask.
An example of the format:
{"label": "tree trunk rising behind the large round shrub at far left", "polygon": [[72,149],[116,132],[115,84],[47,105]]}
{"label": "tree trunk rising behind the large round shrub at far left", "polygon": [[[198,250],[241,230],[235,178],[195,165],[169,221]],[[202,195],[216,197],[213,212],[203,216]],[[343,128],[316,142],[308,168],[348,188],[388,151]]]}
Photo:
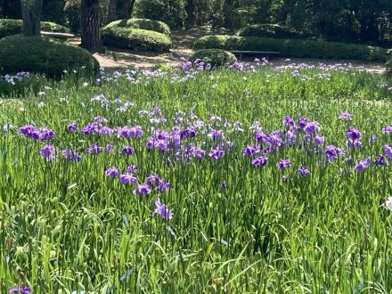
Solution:
{"label": "tree trunk rising behind the large round shrub at far left", "polygon": [[41,33],[42,0],[21,0],[23,35],[39,36]]}

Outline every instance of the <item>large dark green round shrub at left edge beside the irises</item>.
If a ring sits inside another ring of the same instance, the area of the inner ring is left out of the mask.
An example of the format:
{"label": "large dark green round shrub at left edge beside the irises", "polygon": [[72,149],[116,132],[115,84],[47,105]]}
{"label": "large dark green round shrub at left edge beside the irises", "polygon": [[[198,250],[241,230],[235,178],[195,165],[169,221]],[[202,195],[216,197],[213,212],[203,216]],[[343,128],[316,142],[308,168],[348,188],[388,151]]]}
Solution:
{"label": "large dark green round shrub at left edge beside the irises", "polygon": [[61,78],[65,69],[86,67],[87,72],[99,71],[93,55],[75,45],[50,37],[15,35],[0,39],[0,74],[29,71]]}

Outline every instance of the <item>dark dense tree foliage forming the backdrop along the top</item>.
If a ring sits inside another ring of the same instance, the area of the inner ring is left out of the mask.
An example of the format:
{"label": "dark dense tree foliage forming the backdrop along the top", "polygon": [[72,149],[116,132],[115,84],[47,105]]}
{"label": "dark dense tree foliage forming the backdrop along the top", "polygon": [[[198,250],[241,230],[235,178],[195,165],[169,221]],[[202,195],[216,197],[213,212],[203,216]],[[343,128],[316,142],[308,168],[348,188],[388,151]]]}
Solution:
{"label": "dark dense tree foliage forming the backdrop along the top", "polygon": [[[127,17],[118,14],[131,3]],[[80,0],[44,0],[43,20],[78,31]],[[61,13],[65,6],[65,13]],[[324,39],[392,47],[392,2],[388,0],[101,0],[102,26],[132,17],[162,20],[172,29],[208,26],[231,30],[275,23]],[[113,15],[113,12],[114,15]],[[0,17],[20,18],[20,1],[2,0]]]}

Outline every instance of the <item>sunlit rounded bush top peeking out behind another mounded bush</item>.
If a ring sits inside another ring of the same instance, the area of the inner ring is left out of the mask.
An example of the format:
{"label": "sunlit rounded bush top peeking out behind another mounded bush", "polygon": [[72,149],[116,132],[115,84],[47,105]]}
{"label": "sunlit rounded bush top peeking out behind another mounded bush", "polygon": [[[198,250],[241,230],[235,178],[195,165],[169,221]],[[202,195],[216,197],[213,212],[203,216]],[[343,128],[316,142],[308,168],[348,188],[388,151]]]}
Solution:
{"label": "sunlit rounded bush top peeking out behind another mounded bush", "polygon": [[170,36],[170,28],[165,22],[159,20],[147,19],[130,19],[130,20],[115,20],[110,22],[105,28],[129,28],[129,29],[146,29],[153,30]]}

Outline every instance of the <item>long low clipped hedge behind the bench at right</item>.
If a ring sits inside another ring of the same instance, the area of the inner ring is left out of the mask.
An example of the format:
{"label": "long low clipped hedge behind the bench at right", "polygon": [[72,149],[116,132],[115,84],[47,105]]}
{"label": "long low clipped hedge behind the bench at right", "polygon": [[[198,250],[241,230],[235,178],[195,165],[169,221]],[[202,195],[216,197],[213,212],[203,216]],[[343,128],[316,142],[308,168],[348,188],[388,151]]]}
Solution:
{"label": "long low clipped hedge behind the bench at right", "polygon": [[283,57],[346,59],[361,61],[387,60],[387,49],[368,45],[267,37],[207,36],[194,44],[196,50],[219,48],[227,51],[277,51]]}

